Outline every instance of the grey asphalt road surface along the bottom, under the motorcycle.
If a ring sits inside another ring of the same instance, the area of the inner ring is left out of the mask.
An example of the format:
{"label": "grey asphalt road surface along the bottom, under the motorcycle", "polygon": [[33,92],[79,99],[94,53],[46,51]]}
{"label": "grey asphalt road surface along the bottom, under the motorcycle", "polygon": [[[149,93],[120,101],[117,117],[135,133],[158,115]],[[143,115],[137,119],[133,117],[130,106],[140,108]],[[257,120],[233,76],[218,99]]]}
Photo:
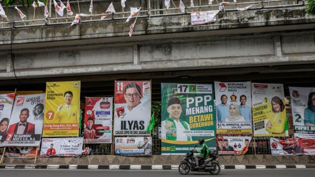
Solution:
{"label": "grey asphalt road surface along the bottom, under the motorcycle", "polygon": [[[222,170],[220,177],[314,177],[315,169]],[[0,169],[0,177],[197,177],[209,173],[180,175],[176,170],[22,170]]]}

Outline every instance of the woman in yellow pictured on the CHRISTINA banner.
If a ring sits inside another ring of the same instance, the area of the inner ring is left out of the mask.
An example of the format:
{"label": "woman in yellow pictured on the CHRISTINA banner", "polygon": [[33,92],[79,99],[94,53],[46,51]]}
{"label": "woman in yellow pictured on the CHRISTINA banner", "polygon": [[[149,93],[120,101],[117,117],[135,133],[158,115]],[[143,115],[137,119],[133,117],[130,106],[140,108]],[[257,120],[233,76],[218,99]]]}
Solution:
{"label": "woman in yellow pictured on the CHRISTINA banner", "polygon": [[270,134],[281,134],[284,132],[286,112],[284,102],[280,97],[274,96],[271,99],[272,112],[268,115],[266,131]]}

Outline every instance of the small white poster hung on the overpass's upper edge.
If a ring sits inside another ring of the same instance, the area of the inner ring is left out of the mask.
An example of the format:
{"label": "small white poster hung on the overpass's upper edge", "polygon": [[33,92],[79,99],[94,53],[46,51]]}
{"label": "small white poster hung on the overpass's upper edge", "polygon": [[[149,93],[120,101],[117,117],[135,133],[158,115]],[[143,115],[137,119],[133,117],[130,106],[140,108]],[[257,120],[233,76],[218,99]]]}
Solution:
{"label": "small white poster hung on the overpass's upper edge", "polygon": [[191,26],[216,22],[216,15],[218,14],[218,12],[219,10],[191,12]]}

